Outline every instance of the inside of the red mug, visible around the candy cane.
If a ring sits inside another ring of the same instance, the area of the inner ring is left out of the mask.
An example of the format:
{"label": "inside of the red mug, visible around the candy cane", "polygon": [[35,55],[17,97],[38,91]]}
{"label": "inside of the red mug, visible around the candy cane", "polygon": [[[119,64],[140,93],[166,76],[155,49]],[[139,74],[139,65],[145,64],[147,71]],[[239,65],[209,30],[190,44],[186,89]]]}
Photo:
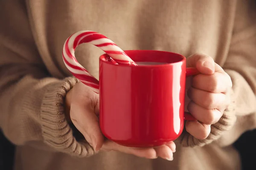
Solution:
{"label": "inside of the red mug, visible around the candy cane", "polygon": [[[178,62],[184,61],[186,58],[180,54],[172,53],[168,51],[156,51],[156,50],[126,50],[125,53],[132,59],[134,62],[159,62],[161,64],[150,65],[152,66],[162,66],[170,65]],[[103,62],[111,63],[111,60],[108,58],[108,54],[103,54],[100,56],[100,60]],[[141,67],[147,67],[147,65],[139,65]],[[122,65],[127,66],[127,65]]]}

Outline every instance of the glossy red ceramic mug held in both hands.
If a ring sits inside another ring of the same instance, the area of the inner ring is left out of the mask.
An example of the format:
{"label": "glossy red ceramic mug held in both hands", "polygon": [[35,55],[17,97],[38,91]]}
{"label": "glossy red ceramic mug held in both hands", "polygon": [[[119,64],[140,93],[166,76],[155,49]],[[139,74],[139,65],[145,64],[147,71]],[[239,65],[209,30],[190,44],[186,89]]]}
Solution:
{"label": "glossy red ceramic mug held in both hands", "polygon": [[135,62],[157,65],[114,65],[99,58],[100,128],[104,136],[128,147],[156,147],[177,139],[184,120],[186,58],[167,51],[125,51]]}

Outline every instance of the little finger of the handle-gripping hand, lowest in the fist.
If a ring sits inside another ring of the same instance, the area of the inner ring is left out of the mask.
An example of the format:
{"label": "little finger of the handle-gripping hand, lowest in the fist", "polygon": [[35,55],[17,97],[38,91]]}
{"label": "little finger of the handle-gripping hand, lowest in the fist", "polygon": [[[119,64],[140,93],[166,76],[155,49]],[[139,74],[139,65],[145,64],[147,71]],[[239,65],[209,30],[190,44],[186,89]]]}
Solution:
{"label": "little finger of the handle-gripping hand, lowest in the fist", "polygon": [[211,132],[211,125],[201,124],[198,121],[187,121],[186,131],[197,139],[206,139]]}

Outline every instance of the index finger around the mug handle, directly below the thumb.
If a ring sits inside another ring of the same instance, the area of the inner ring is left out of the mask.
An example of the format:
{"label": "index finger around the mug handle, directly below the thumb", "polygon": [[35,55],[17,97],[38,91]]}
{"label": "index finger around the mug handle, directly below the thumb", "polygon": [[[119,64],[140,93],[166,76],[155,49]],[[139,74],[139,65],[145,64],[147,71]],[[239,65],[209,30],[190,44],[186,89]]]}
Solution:
{"label": "index finger around the mug handle, directly below the thumb", "polygon": [[192,87],[212,93],[226,93],[232,87],[232,82],[227,74],[219,72],[198,74],[192,79]]}

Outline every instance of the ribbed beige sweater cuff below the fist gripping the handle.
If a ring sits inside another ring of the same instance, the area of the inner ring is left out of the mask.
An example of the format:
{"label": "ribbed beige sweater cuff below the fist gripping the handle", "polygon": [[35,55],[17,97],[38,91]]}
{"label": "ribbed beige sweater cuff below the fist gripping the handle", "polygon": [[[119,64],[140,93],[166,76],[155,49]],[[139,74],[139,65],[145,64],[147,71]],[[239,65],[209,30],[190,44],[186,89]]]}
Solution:
{"label": "ribbed beige sweater cuff below the fist gripping the handle", "polygon": [[230,130],[233,125],[236,122],[236,116],[235,116],[235,100],[233,98],[233,91],[231,92],[231,99],[232,102],[228,106],[228,108],[224,111],[221,119],[211,125],[211,132],[209,136],[204,140],[196,139],[194,136],[190,135],[188,132],[184,130],[182,135],[180,136],[180,144],[183,147],[195,147],[195,146],[204,146],[206,144],[209,144],[221,137],[223,133],[227,130]]}

